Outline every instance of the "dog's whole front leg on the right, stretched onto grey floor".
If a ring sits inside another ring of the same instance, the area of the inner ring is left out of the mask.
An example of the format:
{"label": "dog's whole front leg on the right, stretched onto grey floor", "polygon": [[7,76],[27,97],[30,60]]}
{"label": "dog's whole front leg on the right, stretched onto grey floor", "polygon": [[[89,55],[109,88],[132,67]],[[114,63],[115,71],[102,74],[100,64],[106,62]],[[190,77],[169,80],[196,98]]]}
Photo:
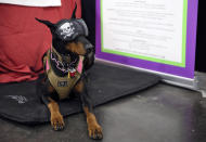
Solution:
{"label": "dog's whole front leg on the right, stretched onto grey floor", "polygon": [[98,124],[95,115],[93,114],[91,99],[88,95],[83,80],[80,80],[76,85],[75,91],[80,96],[83,112],[87,116],[89,137],[92,139],[102,139],[103,138],[102,128]]}

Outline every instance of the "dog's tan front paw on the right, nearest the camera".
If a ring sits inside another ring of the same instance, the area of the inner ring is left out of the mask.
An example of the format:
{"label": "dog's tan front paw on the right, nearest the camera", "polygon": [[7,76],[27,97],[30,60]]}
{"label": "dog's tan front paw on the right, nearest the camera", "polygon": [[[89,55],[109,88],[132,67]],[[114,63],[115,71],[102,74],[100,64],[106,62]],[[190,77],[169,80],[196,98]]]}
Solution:
{"label": "dog's tan front paw on the right, nearest the camera", "polygon": [[88,127],[89,130],[89,137],[94,140],[101,140],[103,138],[102,128],[96,122],[91,124]]}

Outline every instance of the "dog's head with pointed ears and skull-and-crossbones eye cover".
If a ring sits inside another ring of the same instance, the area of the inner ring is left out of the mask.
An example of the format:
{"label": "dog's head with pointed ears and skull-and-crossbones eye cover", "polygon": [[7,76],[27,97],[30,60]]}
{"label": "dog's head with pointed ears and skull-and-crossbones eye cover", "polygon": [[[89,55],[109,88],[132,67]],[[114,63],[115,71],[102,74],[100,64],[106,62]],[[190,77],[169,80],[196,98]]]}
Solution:
{"label": "dog's head with pointed ears and skull-and-crossbones eye cover", "polygon": [[[76,7],[77,8],[77,7]],[[61,54],[73,52],[85,55],[93,46],[86,39],[88,27],[82,18],[76,18],[76,8],[69,20],[61,20],[56,24],[36,18],[47,25],[52,34],[52,46]]]}

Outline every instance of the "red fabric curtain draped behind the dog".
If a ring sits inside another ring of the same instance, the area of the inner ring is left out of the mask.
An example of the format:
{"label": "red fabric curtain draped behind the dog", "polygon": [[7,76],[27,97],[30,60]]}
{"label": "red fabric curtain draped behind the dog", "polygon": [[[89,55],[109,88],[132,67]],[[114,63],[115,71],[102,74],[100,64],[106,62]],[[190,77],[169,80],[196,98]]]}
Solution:
{"label": "red fabric curtain draped behind the dog", "polygon": [[41,57],[51,47],[51,34],[35,17],[52,23],[70,18],[75,1],[76,16],[81,17],[80,0],[62,0],[62,7],[50,8],[0,4],[0,82],[38,78]]}

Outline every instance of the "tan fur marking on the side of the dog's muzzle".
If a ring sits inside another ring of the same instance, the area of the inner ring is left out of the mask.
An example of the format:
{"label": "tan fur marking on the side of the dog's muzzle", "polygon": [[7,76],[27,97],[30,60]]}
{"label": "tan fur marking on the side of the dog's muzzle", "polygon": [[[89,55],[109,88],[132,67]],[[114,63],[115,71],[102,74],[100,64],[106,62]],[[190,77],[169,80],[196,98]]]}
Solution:
{"label": "tan fur marking on the side of the dog's muzzle", "polygon": [[83,44],[81,42],[67,43],[66,44],[66,50],[69,50],[70,52],[74,52],[74,53],[79,54],[79,55],[85,55],[86,54],[86,50],[85,50]]}

